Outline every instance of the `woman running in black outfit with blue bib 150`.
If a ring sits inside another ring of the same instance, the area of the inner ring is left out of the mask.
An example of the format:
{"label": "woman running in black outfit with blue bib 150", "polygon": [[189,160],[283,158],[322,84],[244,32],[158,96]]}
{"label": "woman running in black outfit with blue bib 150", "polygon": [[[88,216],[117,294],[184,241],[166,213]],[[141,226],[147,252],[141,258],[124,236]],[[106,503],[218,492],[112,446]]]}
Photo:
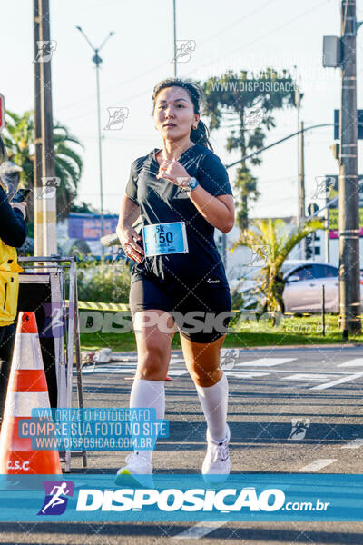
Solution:
{"label": "woman running in black outfit with blue bib 150", "polygon": [[[213,153],[200,118],[202,96],[201,87],[190,80],[168,78],[154,87],[153,119],[162,149],[132,163],[117,234],[126,255],[136,262],[130,307],[138,365],[130,407],[154,408],[156,418],[164,418],[164,380],[178,329],[207,421],[201,472],[210,476],[230,472],[228,382],[220,352],[231,294],[214,228],[231,231],[234,203],[227,171]],[[139,216],[142,235],[132,228]],[[204,316],[201,327],[195,321],[194,328],[190,323],[188,327],[190,312]],[[152,474],[152,451],[133,451],[118,474]]]}

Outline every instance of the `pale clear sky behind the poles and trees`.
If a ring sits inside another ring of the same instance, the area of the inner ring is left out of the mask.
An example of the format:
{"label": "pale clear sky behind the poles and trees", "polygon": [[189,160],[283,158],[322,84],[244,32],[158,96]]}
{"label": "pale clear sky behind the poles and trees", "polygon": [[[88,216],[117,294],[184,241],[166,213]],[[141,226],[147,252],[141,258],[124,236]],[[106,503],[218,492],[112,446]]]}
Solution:
{"label": "pale clear sky behind the poles and trees", "polygon": [[[34,107],[33,22],[30,0],[2,3],[2,78],[0,92],[8,109],[21,113]],[[340,73],[322,67],[323,35],[339,35],[338,0],[177,0],[177,38],[191,39],[196,49],[178,75],[203,81],[227,69],[287,68],[297,73],[304,98],[301,119],[306,125],[332,123],[340,100]],[[358,0],[358,20],[363,0]],[[84,171],[79,199],[99,204],[95,73],[92,50],[75,29],[82,25],[94,45],[111,30],[115,35],[101,53],[102,124],[107,108],[125,107],[129,116],[122,130],[103,131],[104,207],[117,213],[132,161],[161,147],[152,121],[152,88],[173,74],[172,0],[51,0],[51,34],[56,41],[52,62],[54,119],[66,124],[84,145]],[[363,107],[360,79],[363,31],[358,33],[358,107]],[[267,144],[297,127],[297,113],[276,114],[276,128]],[[213,132],[215,153],[223,163],[237,154],[225,150],[228,130]],[[329,145],[333,129],[306,136],[307,203],[315,178],[338,173]],[[359,143],[361,151],[361,143]],[[297,141],[265,152],[253,167],[260,199],[251,216],[297,213]],[[231,183],[234,169],[230,169]]]}

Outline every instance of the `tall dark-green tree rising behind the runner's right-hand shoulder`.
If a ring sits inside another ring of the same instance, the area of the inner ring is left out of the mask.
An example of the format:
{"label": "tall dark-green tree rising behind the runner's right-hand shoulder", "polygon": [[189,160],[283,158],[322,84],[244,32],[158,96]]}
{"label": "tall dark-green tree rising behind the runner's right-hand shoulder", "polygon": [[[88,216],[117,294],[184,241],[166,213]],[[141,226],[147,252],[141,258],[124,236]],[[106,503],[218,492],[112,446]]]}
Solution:
{"label": "tall dark-green tree rising behind the runner's right-hand shoulder", "polygon": [[[221,77],[213,76],[203,84],[206,96],[205,114],[210,117],[210,129],[221,127],[222,121],[231,122],[231,134],[227,139],[228,152],[238,150],[241,157],[263,146],[266,131],[275,126],[271,113],[295,104],[294,82],[288,71],[281,76],[268,68],[257,76],[250,76],[246,71],[240,74],[231,70]],[[302,96],[302,95],[300,95]],[[254,115],[255,123],[251,116]],[[260,123],[256,126],[260,118]],[[237,131],[237,134],[236,134]],[[259,165],[260,156],[250,158],[250,165]],[[250,171],[247,161],[240,163],[237,169],[235,188],[237,195],[237,223],[240,229],[247,229],[249,203],[260,195],[257,179]]]}

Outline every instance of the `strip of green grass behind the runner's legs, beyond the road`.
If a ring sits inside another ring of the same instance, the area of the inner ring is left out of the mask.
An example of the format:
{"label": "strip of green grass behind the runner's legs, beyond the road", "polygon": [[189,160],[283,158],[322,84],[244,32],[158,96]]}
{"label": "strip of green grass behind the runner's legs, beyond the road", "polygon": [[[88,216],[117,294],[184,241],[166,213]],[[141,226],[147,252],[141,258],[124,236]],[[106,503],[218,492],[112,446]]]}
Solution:
{"label": "strip of green grass behind the runner's legs, beyond the road", "polygon": [[[251,320],[243,320],[236,327],[236,332],[227,334],[224,341],[225,348],[249,348],[253,346],[285,346],[305,344],[334,344],[344,343],[342,332],[338,329],[338,315],[327,314],[326,334],[322,334],[320,315],[312,316],[283,316],[280,322],[272,325],[270,319],[264,316],[258,320],[251,316]],[[348,343],[363,343],[363,334],[351,336]],[[82,350],[93,351],[100,348],[111,348],[113,352],[128,352],[136,350],[135,336],[128,333],[82,333]],[[172,340],[172,349],[180,349],[181,342],[178,333]]]}

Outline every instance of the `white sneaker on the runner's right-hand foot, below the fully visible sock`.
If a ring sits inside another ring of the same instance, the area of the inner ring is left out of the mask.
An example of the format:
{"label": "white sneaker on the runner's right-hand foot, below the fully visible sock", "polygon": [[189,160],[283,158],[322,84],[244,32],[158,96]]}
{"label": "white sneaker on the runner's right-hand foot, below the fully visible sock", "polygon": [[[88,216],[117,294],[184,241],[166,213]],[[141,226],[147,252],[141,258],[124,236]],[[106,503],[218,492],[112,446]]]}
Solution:
{"label": "white sneaker on the runner's right-hand foot, below the fully visible sock", "polygon": [[227,425],[227,435],[221,442],[213,441],[207,429],[207,454],[205,455],[201,473],[204,481],[221,482],[225,481],[230,474],[230,451],[228,443],[231,438],[230,427]]}

